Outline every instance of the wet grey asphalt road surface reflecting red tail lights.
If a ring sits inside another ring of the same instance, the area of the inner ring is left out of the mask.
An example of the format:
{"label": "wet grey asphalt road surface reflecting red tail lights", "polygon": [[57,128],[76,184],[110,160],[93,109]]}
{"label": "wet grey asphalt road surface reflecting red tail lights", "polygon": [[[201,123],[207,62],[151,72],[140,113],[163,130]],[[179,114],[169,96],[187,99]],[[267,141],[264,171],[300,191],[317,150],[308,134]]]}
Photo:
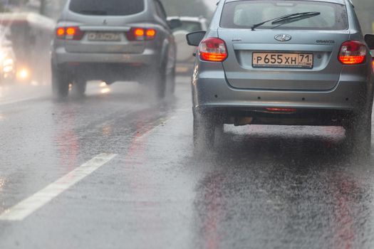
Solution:
{"label": "wet grey asphalt road surface reflecting red tail lights", "polygon": [[45,85],[0,87],[2,215],[116,155],[0,221],[1,249],[374,248],[374,159],[341,153],[343,129],[225,127],[196,158],[189,79],[162,102],[145,92],[93,83],[82,100],[53,101]]}

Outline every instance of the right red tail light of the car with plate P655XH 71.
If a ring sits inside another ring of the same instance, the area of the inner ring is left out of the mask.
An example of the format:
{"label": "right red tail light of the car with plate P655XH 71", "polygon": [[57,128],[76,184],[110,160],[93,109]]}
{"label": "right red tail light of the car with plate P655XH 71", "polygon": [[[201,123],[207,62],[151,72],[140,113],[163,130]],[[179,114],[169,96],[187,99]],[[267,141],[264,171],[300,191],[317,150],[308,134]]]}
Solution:
{"label": "right red tail light of the car with plate P655XH 71", "polygon": [[341,46],[339,60],[346,65],[362,64],[367,54],[366,46],[360,41],[346,41]]}

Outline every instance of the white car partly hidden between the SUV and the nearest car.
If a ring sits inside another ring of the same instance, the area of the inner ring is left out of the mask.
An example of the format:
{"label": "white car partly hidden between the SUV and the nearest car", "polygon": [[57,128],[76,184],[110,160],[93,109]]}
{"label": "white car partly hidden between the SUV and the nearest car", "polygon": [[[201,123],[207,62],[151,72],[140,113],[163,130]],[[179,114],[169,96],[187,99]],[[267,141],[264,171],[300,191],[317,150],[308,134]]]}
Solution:
{"label": "white car partly hidden between the SUV and the nearest car", "polygon": [[190,73],[194,65],[194,53],[196,48],[186,43],[187,33],[194,31],[207,31],[207,18],[202,16],[172,16],[168,20],[179,19],[181,26],[174,28],[173,35],[177,44],[177,73]]}

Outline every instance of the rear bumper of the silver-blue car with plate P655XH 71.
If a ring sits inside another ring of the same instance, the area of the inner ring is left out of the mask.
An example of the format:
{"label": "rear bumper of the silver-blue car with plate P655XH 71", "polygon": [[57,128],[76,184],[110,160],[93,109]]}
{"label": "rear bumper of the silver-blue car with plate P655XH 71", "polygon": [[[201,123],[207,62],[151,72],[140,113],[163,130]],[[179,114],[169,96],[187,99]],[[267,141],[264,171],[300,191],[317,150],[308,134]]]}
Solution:
{"label": "rear bumper of the silver-blue car with plate P655XH 71", "polygon": [[[245,90],[232,88],[223,70],[207,70],[194,74],[192,92],[194,112],[214,114],[226,123],[233,117],[254,117],[256,124],[340,125],[373,105],[373,86],[365,75],[342,75],[327,91]],[[268,112],[269,107],[296,112]]]}

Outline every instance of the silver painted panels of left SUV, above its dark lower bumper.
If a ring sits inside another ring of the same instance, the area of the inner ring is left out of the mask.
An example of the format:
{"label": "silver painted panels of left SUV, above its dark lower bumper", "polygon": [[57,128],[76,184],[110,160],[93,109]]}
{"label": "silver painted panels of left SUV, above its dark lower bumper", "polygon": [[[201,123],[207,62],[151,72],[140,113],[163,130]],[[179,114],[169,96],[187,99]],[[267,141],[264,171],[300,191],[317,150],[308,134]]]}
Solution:
{"label": "silver painted panels of left SUV, above its dark lower bumper", "polygon": [[[145,10],[129,16],[97,16],[78,14],[69,9],[67,1],[58,27],[78,26],[84,31],[80,41],[55,38],[52,48],[53,65],[66,63],[141,63],[175,65],[175,43],[166,20],[157,16],[153,0],[145,1]],[[152,41],[128,41],[125,32],[130,28],[155,28],[157,36]],[[88,33],[96,31],[120,33],[120,41],[88,41]]]}

